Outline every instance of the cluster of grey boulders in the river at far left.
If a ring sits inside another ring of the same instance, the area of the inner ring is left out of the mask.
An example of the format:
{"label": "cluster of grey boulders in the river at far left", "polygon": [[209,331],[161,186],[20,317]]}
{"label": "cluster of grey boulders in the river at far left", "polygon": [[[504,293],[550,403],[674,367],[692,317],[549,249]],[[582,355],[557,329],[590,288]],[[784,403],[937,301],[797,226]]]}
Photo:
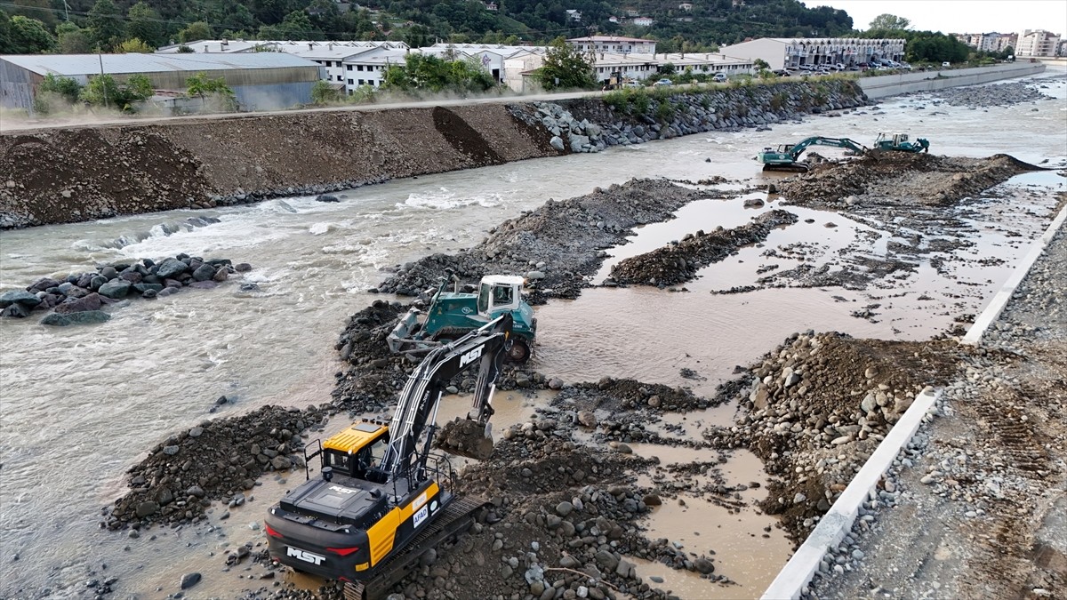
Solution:
{"label": "cluster of grey boulders in the river at far left", "polygon": [[0,316],[25,318],[35,311],[54,310],[42,325],[67,326],[103,322],[111,316],[101,311],[126,298],[163,298],[184,287],[212,289],[230,274],[251,270],[248,264],[234,266],[228,258],[205,260],[178,254],[156,263],[100,265],[95,272],[71,273],[63,280],[43,278],[25,290],[0,295]]}

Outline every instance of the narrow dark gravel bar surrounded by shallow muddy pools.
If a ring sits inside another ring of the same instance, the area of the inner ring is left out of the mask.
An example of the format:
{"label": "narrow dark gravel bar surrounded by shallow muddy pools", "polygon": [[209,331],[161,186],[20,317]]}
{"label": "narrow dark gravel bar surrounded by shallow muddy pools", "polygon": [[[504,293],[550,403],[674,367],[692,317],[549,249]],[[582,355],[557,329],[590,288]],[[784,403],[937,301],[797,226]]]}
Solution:
{"label": "narrow dark gravel bar surrounded by shallow muddy pools", "polygon": [[732,230],[717,227],[710,234],[699,231],[686,235],[681,242],[620,262],[611,268],[610,279],[616,283],[659,287],[684,283],[696,279],[697,271],[707,265],[724,259],[744,246],[761,242],[771,230],[798,220],[792,212],[775,209]]}

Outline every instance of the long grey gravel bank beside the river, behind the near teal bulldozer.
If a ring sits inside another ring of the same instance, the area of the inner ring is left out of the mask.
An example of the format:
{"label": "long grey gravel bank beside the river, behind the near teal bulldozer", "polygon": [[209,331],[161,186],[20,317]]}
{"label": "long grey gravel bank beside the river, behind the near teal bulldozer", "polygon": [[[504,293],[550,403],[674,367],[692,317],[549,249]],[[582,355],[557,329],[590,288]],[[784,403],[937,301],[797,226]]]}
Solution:
{"label": "long grey gravel bank beside the river, behind the near teal bulldozer", "polygon": [[451,270],[467,284],[487,274],[526,277],[532,289],[528,301],[534,304],[548,298],[577,298],[606,256],[603,249],[625,243],[637,225],[664,221],[680,207],[717,193],[666,180],[634,179],[584,196],[550,199],[537,210],[505,221],[472,249],[398,266],[373,290],[417,296]]}

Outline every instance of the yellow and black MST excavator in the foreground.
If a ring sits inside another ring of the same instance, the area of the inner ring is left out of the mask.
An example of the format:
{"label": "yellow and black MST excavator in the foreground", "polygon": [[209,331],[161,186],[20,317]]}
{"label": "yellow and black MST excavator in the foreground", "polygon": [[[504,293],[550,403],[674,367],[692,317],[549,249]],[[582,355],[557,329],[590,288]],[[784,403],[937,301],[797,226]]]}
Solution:
{"label": "yellow and black MST excavator in the foreground", "polygon": [[426,550],[466,531],[485,500],[458,498],[450,462],[430,453],[437,407],[448,381],[478,365],[473,408],[458,420],[476,440],[459,447],[476,448],[472,458],[489,458],[492,398],[511,328],[505,313],[431,349],[409,377],[388,425],[363,420],[313,454],[305,451],[305,463],[321,457],[321,477],[308,471],[304,484],[270,508],[265,528],[271,558],[344,582],[348,600],[376,600],[416,568]]}

